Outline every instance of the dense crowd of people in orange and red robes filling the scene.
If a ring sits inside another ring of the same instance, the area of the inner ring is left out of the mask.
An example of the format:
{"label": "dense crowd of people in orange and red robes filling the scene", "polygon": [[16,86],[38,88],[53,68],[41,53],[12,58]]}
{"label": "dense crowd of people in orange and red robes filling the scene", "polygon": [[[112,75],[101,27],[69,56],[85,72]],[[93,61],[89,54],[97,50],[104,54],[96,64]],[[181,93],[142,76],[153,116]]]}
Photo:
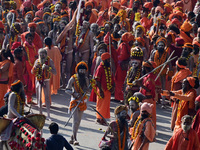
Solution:
{"label": "dense crowd of people in orange and red robes filling the scene", "polygon": [[[1,116],[23,118],[30,104],[51,121],[51,95],[62,88],[71,95],[70,144],[79,145],[89,100],[96,123],[109,126],[101,149],[146,150],[160,104],[172,107],[165,149],[200,149],[199,10],[199,0],[1,1]],[[108,124],[111,100],[119,106]]]}

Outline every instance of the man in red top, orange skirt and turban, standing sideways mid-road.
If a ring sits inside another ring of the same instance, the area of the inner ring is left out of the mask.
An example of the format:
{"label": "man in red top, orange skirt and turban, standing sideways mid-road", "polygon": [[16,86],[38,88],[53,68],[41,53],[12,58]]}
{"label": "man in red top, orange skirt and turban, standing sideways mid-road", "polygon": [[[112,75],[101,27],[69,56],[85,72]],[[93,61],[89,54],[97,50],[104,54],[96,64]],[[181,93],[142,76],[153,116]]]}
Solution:
{"label": "man in red top, orange skirt and turban, standing sideways mid-road", "polygon": [[[103,53],[101,55],[101,64],[98,66],[94,78],[97,82],[97,103],[96,108],[97,111],[101,113],[101,115],[105,119],[110,118],[110,98],[111,93],[114,91],[113,86],[113,75],[111,74],[110,68],[110,54],[108,52]],[[97,123],[105,124],[102,117],[97,114]]]}

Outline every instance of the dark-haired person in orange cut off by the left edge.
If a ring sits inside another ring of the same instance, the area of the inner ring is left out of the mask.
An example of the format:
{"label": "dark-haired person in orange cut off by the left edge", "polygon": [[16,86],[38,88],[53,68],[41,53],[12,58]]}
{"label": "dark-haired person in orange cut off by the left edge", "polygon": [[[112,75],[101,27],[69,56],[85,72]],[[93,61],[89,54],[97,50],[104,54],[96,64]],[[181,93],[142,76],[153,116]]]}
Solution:
{"label": "dark-haired person in orange cut off by the left edge", "polygon": [[[11,60],[9,60],[8,57],[10,57]],[[12,77],[13,63],[14,58],[10,50],[2,49],[0,51],[0,108],[4,106],[3,98],[8,90],[9,78]]]}

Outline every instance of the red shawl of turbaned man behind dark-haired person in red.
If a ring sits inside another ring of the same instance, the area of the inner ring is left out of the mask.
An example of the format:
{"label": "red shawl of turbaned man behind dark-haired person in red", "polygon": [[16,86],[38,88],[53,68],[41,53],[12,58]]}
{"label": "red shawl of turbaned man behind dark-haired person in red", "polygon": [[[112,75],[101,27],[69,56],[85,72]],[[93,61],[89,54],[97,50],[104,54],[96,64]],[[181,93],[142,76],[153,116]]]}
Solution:
{"label": "red shawl of turbaned man behind dark-haired person in red", "polygon": [[[25,36],[26,36],[27,33],[29,33],[29,31],[21,34],[22,43],[24,43],[26,41]],[[40,48],[43,47],[42,40],[36,32],[35,32],[35,35],[34,35],[33,44],[36,46],[37,49],[40,49]]]}

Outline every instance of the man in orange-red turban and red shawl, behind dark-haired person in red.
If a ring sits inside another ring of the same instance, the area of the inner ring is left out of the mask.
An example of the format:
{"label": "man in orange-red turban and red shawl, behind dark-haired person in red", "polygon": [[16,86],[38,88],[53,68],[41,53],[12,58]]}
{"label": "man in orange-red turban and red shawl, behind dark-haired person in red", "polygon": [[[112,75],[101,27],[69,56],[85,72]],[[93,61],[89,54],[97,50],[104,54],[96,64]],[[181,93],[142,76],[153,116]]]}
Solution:
{"label": "man in orange-red turban and red shawl, behind dark-haired person in red", "polygon": [[29,27],[29,31],[21,34],[22,44],[24,44],[24,42],[26,40],[26,38],[25,38],[26,34],[31,33],[33,35],[33,44],[36,46],[37,49],[42,48],[43,44],[42,44],[42,41],[40,39],[40,36],[35,32],[37,24],[34,23],[34,22],[31,22],[31,23],[28,24],[28,27]]}

